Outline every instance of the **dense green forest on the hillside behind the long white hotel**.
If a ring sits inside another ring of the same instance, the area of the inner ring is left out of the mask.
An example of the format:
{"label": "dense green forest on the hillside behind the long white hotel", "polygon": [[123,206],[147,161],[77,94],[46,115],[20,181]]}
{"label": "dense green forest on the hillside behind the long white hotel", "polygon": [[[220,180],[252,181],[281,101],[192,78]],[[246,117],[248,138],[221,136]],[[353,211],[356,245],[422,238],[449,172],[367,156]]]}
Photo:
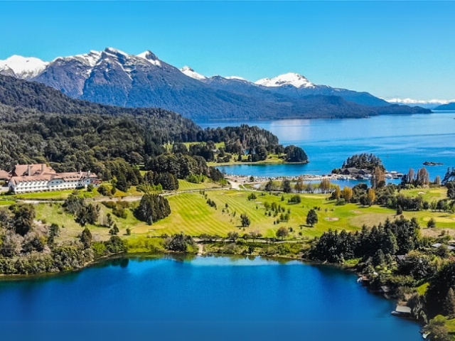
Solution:
{"label": "dense green forest on the hillside behind the long white hotel", "polygon": [[[6,171],[16,163],[50,163],[55,171],[91,170],[110,180],[119,171],[109,169],[108,161],[152,165],[156,156],[168,152],[164,144],[211,142],[215,148],[214,143],[224,142],[242,152],[278,144],[276,136],[256,126],[203,130],[174,112],[92,104],[11,77],[0,77],[0,103],[0,169]],[[200,168],[201,161],[196,158],[196,163]],[[207,175],[208,170],[198,173]]]}

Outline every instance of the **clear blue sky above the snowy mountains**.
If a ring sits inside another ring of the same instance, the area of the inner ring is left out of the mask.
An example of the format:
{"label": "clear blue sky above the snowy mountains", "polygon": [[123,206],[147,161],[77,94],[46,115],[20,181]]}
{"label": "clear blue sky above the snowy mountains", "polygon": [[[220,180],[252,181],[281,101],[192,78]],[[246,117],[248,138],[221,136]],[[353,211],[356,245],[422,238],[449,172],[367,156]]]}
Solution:
{"label": "clear blue sky above the snowy mountains", "polygon": [[0,59],[107,46],[247,80],[455,98],[452,1],[0,1]]}

